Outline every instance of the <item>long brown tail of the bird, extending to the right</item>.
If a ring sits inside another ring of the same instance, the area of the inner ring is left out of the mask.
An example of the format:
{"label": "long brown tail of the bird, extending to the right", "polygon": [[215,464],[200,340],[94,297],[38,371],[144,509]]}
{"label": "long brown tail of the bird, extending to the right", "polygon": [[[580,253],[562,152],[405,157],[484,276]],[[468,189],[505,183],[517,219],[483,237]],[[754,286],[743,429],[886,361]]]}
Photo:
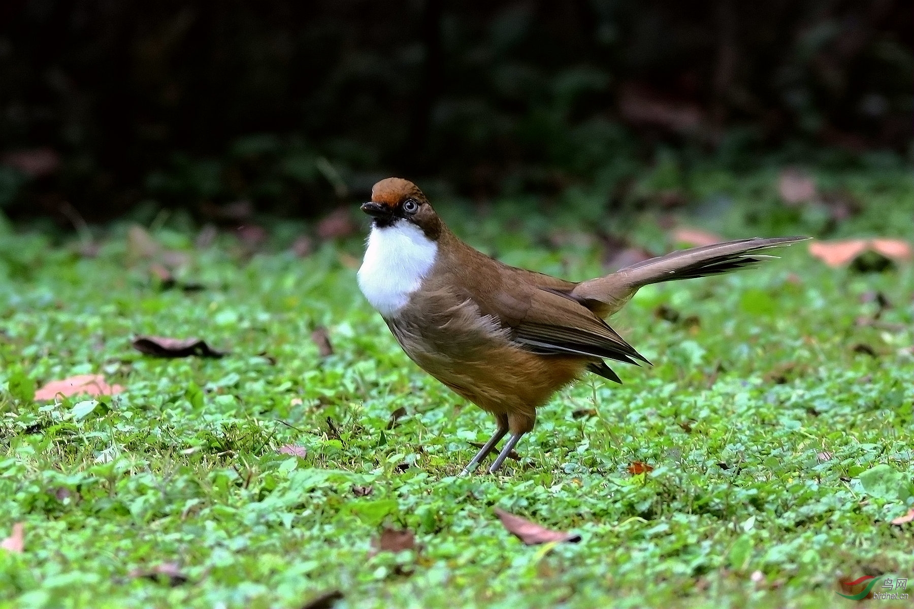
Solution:
{"label": "long brown tail of the bird, extending to the right", "polygon": [[808,238],[808,236],[777,236],[771,239],[755,237],[717,243],[713,246],[680,249],[670,252],[666,256],[651,258],[631,267],[622,268],[606,277],[583,281],[571,290],[571,295],[586,302],[590,310],[600,317],[607,317],[622,309],[622,305],[628,302],[643,286],[662,281],[720,275],[731,270],[751,267],[773,257],[756,252],[772,247],[789,246]]}

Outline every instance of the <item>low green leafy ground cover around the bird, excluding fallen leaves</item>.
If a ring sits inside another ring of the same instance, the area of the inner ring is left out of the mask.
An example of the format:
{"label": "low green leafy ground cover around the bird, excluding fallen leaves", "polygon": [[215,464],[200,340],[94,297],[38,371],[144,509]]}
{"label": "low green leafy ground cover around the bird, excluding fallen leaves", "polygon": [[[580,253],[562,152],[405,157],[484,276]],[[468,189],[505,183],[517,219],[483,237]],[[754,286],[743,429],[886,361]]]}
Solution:
{"label": "low green leafy ground cover around the bird, excluding fallen leaves", "polygon": [[[770,173],[692,183],[736,201],[693,225],[817,230],[814,213],[772,203]],[[907,174],[841,185],[866,210],[834,234],[909,236]],[[600,274],[592,240],[541,245],[552,218],[590,233],[572,205],[586,196],[541,213],[441,208],[512,264],[587,278]],[[889,524],[914,505],[909,266],[826,268],[801,244],[758,270],[643,289],[611,323],[654,367],[618,366],[622,386],[585,378],[540,411],[521,462],[456,478],[493,421],[399,350],[356,288],[357,237],[248,259],[228,236],[195,249],[165,224],[154,236],[204,291],[160,289],[123,227],[97,257],[0,236],[0,539],[26,530],[23,553],[0,550],[0,607],[294,609],[335,589],[338,607],[834,607],[853,605],[839,577],[914,575],[914,525]],[[633,226],[662,243],[650,214]],[[857,324],[874,290],[892,306]],[[335,348],[323,359],[317,325]],[[135,334],[230,354],[154,359]],[[125,391],[81,418],[84,398],[30,399],[78,373]],[[632,476],[633,461],[654,471]],[[494,506],[583,539],[526,547]],[[385,524],[414,530],[420,550],[373,553]],[[169,562],[186,583],[130,576]]]}

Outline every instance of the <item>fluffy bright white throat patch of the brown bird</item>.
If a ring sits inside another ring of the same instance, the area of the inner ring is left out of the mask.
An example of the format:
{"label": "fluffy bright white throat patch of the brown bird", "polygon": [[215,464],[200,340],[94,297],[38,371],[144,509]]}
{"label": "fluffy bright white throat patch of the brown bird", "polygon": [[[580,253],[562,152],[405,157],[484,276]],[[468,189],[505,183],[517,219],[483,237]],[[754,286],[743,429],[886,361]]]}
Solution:
{"label": "fluffy bright white throat patch of the brown bird", "polygon": [[377,312],[394,317],[407,305],[409,295],[420,289],[437,254],[438,244],[407,220],[383,228],[372,226],[358,269],[358,287]]}

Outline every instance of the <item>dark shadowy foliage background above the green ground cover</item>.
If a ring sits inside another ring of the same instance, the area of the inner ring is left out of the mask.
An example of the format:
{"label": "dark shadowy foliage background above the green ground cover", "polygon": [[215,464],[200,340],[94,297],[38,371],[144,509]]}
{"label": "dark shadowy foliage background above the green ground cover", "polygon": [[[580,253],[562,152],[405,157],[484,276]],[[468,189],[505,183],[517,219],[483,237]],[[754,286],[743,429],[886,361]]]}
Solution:
{"label": "dark shadowy foliage background above the green ground cover", "polygon": [[[658,147],[910,151],[911,3],[6,0],[0,207],[315,215],[400,174],[611,189]],[[150,203],[152,202],[152,203]]]}

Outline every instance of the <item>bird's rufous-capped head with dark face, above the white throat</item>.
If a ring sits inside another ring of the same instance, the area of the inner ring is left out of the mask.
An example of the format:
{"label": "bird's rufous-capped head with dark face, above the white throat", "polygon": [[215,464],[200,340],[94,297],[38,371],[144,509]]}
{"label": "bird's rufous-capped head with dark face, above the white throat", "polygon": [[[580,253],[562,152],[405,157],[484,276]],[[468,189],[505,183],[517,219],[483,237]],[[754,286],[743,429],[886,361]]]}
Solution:
{"label": "bird's rufous-capped head with dark face, above the white throat", "polygon": [[374,218],[372,223],[377,228],[408,222],[419,226],[430,239],[437,239],[441,233],[441,219],[425,194],[403,178],[387,178],[375,184],[371,201],[362,204],[362,211]]}

